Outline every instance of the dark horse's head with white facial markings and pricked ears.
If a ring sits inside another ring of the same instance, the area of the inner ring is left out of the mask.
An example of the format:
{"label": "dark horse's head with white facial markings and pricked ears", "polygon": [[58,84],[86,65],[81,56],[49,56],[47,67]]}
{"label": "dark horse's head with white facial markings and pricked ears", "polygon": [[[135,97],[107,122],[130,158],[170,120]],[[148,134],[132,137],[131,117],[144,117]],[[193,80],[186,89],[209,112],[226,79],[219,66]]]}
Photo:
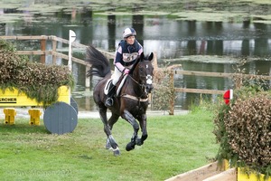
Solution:
{"label": "dark horse's head with white facial markings and pricked ears", "polygon": [[141,54],[139,62],[136,66],[138,82],[145,87],[145,91],[150,93],[153,89],[153,74],[154,66],[152,60],[154,58],[154,53],[152,52],[149,56],[145,57],[144,53]]}

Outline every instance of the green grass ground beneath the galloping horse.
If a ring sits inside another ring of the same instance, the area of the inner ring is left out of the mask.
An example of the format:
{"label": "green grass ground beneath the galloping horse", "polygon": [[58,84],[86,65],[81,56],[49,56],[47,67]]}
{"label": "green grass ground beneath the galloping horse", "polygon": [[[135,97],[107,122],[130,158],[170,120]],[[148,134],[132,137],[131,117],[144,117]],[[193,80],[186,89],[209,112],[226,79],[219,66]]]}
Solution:
{"label": "green grass ground beneath the galloping horse", "polygon": [[132,127],[119,119],[113,135],[121,156],[104,148],[99,119],[79,119],[73,133],[51,135],[28,119],[14,126],[0,123],[0,176],[4,180],[164,180],[215,157],[218,145],[212,133],[212,114],[194,110],[188,115],[148,117],[142,147],[126,152]]}

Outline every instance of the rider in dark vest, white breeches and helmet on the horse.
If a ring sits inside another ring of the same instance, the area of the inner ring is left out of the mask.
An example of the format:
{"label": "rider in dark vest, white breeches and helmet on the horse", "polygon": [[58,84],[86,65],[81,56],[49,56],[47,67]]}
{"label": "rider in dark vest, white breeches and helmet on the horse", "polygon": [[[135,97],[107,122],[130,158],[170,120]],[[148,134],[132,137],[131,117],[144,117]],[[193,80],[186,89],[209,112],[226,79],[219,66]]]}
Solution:
{"label": "rider in dark vest, white breeches and helmet on the horse", "polygon": [[117,52],[114,60],[115,71],[113,74],[113,80],[110,82],[109,91],[107,93],[106,106],[113,105],[113,95],[116,90],[116,84],[120,76],[128,74],[135,59],[143,52],[143,46],[135,40],[135,29],[126,28],[123,32],[124,40],[118,43]]}

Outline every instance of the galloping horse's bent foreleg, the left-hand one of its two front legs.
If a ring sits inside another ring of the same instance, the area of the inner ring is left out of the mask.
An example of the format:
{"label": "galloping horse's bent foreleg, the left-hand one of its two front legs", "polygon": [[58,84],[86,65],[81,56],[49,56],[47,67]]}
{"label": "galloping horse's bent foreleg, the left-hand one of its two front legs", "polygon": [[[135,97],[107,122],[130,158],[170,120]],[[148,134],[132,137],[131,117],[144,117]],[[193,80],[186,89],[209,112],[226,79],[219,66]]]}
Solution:
{"label": "galloping horse's bent foreleg, the left-hand one of its two front legs", "polygon": [[133,126],[133,129],[134,129],[134,134],[133,134],[133,136],[131,138],[131,142],[129,142],[126,145],[126,150],[130,151],[130,150],[135,148],[135,144],[136,144],[136,140],[137,140],[137,132],[139,130],[139,125],[136,122],[133,115],[128,110],[124,110],[124,113],[121,115],[121,117],[123,119],[126,119],[126,121],[128,121]]}

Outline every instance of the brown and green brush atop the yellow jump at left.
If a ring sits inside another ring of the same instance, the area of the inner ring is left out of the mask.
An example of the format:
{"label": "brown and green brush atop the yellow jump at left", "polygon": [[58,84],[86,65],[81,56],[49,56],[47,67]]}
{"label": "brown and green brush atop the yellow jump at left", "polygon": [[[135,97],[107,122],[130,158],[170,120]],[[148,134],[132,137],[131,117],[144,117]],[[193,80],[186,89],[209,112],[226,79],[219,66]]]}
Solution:
{"label": "brown and green brush atop the yellow jump at left", "polygon": [[74,79],[66,66],[28,62],[19,56],[11,43],[0,40],[0,89],[23,91],[43,105],[58,100],[58,88],[74,87]]}

